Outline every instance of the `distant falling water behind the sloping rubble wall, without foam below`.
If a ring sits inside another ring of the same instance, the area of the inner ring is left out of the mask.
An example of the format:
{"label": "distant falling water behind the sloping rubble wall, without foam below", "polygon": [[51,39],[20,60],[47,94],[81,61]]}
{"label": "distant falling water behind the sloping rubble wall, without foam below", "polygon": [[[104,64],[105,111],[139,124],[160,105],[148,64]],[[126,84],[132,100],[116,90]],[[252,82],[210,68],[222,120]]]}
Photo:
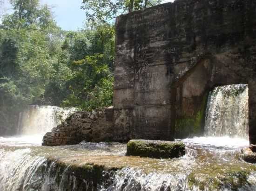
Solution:
{"label": "distant falling water behind the sloping rubble wall, without foam below", "polygon": [[45,134],[74,113],[75,109],[32,105],[20,113],[18,134]]}

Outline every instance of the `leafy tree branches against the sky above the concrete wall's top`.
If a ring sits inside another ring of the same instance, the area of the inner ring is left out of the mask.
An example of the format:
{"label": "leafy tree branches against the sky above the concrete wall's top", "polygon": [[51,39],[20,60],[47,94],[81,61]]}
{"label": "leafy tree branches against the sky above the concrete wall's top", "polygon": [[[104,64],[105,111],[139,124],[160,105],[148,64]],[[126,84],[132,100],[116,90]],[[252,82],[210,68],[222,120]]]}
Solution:
{"label": "leafy tree branches against the sky above the concrete wall's top", "polygon": [[83,0],[89,21],[108,22],[121,13],[141,10],[160,4],[162,0]]}

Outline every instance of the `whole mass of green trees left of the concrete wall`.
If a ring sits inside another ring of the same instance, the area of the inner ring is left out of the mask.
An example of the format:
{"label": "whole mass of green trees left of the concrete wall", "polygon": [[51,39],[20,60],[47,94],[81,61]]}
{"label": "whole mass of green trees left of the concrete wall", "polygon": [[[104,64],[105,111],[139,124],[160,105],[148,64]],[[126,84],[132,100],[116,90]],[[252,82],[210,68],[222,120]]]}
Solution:
{"label": "whole mass of green trees left of the concrete wall", "polygon": [[13,14],[0,25],[0,130],[14,129],[30,104],[82,110],[111,105],[114,27],[65,32],[39,0],[11,3]]}

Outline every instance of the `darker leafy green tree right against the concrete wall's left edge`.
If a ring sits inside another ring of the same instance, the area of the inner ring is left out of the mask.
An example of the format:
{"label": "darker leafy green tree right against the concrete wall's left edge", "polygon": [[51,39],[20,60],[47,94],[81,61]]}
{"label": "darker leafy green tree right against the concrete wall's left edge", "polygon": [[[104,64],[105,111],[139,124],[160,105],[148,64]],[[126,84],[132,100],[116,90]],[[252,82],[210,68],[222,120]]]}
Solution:
{"label": "darker leafy green tree right against the concrete wall's left edge", "polygon": [[73,76],[69,81],[71,94],[63,106],[92,110],[111,105],[114,44],[114,27],[107,24],[67,35],[62,48],[69,51]]}

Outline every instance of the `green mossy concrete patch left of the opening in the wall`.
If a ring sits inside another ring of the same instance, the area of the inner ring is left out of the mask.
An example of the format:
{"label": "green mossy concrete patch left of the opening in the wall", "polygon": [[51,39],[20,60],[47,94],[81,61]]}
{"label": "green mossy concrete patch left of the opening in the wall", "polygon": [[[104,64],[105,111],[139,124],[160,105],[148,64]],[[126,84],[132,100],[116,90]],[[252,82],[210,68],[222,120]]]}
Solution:
{"label": "green mossy concrete patch left of the opening in the wall", "polygon": [[176,119],[175,138],[183,139],[203,134],[207,99],[208,94],[205,94],[205,96],[202,97],[201,106],[193,117],[184,116]]}

